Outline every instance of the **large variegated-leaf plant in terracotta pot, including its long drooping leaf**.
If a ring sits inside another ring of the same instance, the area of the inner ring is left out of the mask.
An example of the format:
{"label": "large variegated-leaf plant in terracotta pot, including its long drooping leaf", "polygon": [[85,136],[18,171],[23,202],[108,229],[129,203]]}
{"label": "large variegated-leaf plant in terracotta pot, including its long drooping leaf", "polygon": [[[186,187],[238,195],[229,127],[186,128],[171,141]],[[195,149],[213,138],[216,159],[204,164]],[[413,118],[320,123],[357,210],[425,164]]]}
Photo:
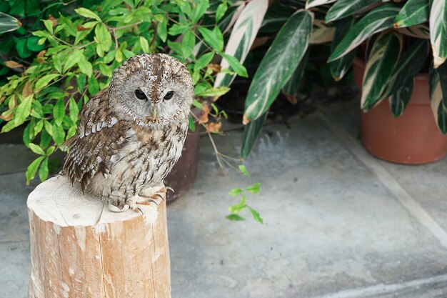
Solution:
{"label": "large variegated-leaf plant in terracotta pot, including its long drooping leaf", "polygon": [[[283,9],[273,10],[276,4]],[[404,163],[443,157],[447,153],[447,50],[443,42],[447,19],[441,12],[445,9],[445,0],[275,1],[263,26],[276,26],[277,34],[248,90],[241,157],[253,147],[278,94],[296,92],[308,63],[308,46],[328,41],[332,47],[328,63],[336,81],[351,69],[356,53],[366,59],[364,79],[356,82],[363,87],[361,107],[368,111],[362,114],[363,144],[368,152]],[[359,61],[354,63],[355,74],[363,74]],[[421,71],[429,74],[419,76]],[[384,111],[386,120],[379,111]]]}

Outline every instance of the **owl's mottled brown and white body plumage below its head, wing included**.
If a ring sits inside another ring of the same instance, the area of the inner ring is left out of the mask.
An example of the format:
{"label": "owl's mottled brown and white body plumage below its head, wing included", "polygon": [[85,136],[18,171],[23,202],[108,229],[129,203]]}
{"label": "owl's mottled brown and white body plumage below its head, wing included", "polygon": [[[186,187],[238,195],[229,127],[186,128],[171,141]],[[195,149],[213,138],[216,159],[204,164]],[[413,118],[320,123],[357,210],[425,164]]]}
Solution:
{"label": "owl's mottled brown and white body plumage below its head, wing included", "polygon": [[[106,91],[103,91],[81,110],[78,134],[64,144],[69,147],[69,153],[61,174],[66,174],[71,183],[80,182],[83,192],[96,174],[104,178],[114,177],[110,183],[126,184],[113,181],[118,172],[122,172],[120,166],[124,161],[128,170],[141,171],[139,177],[143,172],[150,172],[150,177],[159,177],[162,181],[180,157],[187,129],[186,121],[179,126],[172,124],[150,131],[119,120],[109,109]],[[114,165],[118,167],[116,173]],[[123,173],[126,172],[130,173]],[[119,174],[119,177],[124,179],[126,174]],[[143,182],[148,182],[147,179],[150,178],[145,177]]]}

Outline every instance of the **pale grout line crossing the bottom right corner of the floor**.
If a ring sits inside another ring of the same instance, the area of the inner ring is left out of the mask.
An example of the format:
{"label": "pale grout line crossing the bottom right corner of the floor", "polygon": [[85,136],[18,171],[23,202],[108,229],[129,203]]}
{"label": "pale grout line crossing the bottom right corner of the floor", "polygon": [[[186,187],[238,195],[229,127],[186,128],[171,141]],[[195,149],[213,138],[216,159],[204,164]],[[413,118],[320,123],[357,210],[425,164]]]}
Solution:
{"label": "pale grout line crossing the bottom right corner of the floor", "polygon": [[377,294],[391,294],[393,292],[408,289],[418,288],[425,284],[436,284],[440,282],[447,282],[447,274],[438,275],[436,277],[428,277],[426,279],[413,279],[408,282],[399,282],[395,284],[375,284],[370,287],[363,287],[358,289],[346,289],[340,292],[326,294],[315,298],[367,298],[376,297]]}

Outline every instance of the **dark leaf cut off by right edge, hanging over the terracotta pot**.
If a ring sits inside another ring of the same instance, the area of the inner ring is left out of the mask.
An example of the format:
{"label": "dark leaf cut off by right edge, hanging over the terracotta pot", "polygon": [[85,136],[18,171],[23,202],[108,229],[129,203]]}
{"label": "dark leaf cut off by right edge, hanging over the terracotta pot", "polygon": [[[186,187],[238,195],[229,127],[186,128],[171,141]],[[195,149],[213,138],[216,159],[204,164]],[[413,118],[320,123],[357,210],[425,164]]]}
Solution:
{"label": "dark leaf cut off by right edge, hanging over the terracotta pot", "polygon": [[430,69],[430,101],[436,124],[447,134],[447,64]]}

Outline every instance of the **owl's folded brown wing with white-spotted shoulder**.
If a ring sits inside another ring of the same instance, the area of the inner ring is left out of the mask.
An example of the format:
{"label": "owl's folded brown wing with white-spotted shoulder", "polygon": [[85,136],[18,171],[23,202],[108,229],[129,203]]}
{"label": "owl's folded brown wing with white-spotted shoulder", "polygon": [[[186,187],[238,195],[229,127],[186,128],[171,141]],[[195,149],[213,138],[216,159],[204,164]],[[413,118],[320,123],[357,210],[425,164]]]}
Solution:
{"label": "owl's folded brown wing with white-spotted shoulder", "polygon": [[110,159],[126,142],[128,126],[109,109],[106,91],[90,99],[79,113],[78,133],[64,143],[69,147],[63,173],[82,191],[95,174],[110,173]]}

